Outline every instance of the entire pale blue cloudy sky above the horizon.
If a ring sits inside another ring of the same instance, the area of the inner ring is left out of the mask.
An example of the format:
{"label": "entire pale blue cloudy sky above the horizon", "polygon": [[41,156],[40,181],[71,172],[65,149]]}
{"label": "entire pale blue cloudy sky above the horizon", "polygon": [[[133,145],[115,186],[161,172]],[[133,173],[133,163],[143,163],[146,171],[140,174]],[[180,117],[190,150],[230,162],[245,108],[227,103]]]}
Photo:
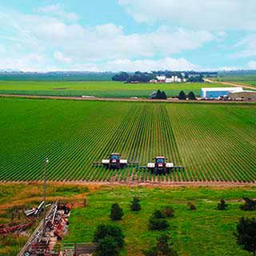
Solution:
{"label": "entire pale blue cloudy sky above the horizon", "polygon": [[0,70],[256,70],[255,0],[0,0]]}

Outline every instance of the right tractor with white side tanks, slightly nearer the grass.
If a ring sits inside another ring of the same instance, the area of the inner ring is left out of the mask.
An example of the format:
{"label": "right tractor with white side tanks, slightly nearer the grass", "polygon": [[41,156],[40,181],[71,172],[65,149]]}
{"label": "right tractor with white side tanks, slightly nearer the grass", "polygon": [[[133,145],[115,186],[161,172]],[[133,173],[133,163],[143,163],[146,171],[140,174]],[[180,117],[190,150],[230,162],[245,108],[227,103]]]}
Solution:
{"label": "right tractor with white side tanks, slightly nearer the grass", "polygon": [[183,166],[174,166],[172,162],[166,162],[167,158],[159,156],[153,158],[154,162],[148,162],[147,166],[138,166],[138,169],[150,170],[154,174],[170,174],[171,170],[184,170]]}

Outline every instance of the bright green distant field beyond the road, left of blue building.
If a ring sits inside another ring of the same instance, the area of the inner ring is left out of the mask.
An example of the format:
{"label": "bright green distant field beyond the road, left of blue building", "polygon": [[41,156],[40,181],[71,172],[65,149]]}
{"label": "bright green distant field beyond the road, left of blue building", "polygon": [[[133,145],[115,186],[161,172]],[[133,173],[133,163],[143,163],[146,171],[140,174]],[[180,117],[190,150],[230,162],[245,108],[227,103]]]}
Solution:
{"label": "bright green distant field beyond the road, left of blue building", "polygon": [[165,90],[168,97],[174,97],[184,90],[191,90],[200,95],[202,87],[223,86],[210,83],[182,84],[126,84],[123,82],[32,82],[32,81],[0,81],[0,94],[37,94],[59,96],[95,96],[110,98],[147,98],[154,90]]}

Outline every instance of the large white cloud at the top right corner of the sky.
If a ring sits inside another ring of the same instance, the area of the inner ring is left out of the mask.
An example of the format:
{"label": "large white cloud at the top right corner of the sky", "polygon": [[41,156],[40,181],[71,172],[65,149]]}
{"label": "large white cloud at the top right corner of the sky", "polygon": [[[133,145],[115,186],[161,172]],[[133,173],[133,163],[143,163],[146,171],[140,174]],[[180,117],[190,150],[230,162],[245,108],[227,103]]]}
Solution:
{"label": "large white cloud at the top right corner of the sky", "polygon": [[137,22],[200,29],[256,29],[255,0],[118,0]]}

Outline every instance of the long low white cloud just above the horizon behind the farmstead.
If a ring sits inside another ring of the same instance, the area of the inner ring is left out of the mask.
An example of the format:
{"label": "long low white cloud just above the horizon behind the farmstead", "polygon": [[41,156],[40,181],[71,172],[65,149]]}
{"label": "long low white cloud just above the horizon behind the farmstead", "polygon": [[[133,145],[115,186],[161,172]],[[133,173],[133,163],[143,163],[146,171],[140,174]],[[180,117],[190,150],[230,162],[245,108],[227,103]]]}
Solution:
{"label": "long low white cloud just above the horizon behind the farmstead", "polygon": [[87,63],[73,66],[74,70],[89,71],[151,71],[151,70],[198,70],[198,66],[188,62],[184,58],[162,58],[158,60],[150,59],[115,59],[110,62],[98,64]]}

